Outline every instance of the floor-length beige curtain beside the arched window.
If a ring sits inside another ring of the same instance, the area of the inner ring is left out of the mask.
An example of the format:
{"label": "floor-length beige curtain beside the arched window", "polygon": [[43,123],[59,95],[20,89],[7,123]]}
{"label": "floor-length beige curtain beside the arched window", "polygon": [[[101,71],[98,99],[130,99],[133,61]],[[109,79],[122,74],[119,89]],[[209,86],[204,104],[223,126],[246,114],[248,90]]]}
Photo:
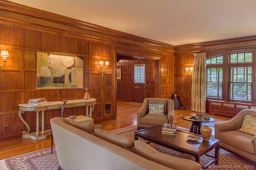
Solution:
{"label": "floor-length beige curtain beside the arched window", "polygon": [[191,111],[206,113],[206,53],[194,55]]}

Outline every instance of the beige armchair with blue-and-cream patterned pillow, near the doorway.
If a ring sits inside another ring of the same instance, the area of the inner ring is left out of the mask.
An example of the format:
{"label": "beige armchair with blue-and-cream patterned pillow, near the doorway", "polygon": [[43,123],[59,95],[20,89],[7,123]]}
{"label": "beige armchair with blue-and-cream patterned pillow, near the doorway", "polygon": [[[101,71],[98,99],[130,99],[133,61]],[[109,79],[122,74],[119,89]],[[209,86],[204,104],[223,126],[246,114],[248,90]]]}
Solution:
{"label": "beige armchair with blue-and-cream patterned pillow, near the doorway", "polygon": [[[151,115],[149,113],[148,104],[164,103],[164,115]],[[164,98],[145,98],[142,107],[137,112],[137,127],[143,129],[155,125],[163,125],[164,123],[173,124],[174,121],[174,102],[172,99]]]}

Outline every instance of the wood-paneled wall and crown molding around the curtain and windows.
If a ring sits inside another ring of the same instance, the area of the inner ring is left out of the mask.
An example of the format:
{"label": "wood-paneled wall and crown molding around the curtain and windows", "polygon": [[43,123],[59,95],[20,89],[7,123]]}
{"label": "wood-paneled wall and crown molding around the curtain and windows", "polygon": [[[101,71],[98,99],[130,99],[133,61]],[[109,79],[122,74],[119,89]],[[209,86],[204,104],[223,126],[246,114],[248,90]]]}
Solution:
{"label": "wood-paneled wall and crown molding around the curtain and windows", "polygon": [[[193,66],[194,53],[206,53],[207,58],[224,54],[228,57],[228,53],[239,51],[255,51],[256,36],[239,37],[232,39],[224,39],[218,41],[209,41],[203,43],[195,43],[188,45],[179,45],[174,50],[174,91],[178,94],[183,107],[191,107],[191,84],[192,79],[186,74],[185,67]],[[254,56],[254,59],[255,56]],[[255,94],[253,94],[255,95]],[[230,101],[220,101],[228,103]],[[254,101],[252,103],[255,103]],[[211,102],[207,102],[208,105]],[[250,103],[248,103],[250,104]],[[216,108],[216,106],[207,106],[208,108]],[[210,109],[209,109],[210,110]],[[232,113],[231,113],[232,112]],[[227,112],[229,115],[236,115],[237,110],[232,109]]]}

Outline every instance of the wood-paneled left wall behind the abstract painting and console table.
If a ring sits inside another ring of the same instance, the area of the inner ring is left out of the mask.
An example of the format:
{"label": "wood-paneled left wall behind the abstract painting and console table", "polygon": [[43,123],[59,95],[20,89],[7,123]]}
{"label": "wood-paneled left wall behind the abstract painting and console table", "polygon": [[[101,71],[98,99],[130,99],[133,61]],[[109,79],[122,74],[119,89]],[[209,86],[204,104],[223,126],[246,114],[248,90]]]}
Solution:
{"label": "wood-paneled left wall behind the abstract painting and console table", "polygon": [[[92,118],[94,122],[100,122],[116,118],[116,55],[159,60],[162,54],[173,55],[174,46],[0,0],[0,50],[8,50],[10,56],[0,70],[0,141],[3,141],[21,137],[22,131],[26,130],[18,117],[18,104],[40,97],[49,102],[83,98],[85,89],[36,89],[37,51],[68,53],[83,58],[83,83],[89,86],[91,98],[96,98]],[[103,77],[99,60],[110,61]],[[161,65],[153,65],[154,71],[161,74]],[[162,96],[158,86],[160,80],[154,78],[156,96]],[[105,104],[111,104],[112,114],[104,115]],[[82,115],[84,111],[85,107],[66,108],[64,116]],[[35,131],[35,112],[26,112],[22,116],[31,131]],[[60,116],[60,109],[46,111],[46,129],[50,128],[50,118],[56,116]]]}

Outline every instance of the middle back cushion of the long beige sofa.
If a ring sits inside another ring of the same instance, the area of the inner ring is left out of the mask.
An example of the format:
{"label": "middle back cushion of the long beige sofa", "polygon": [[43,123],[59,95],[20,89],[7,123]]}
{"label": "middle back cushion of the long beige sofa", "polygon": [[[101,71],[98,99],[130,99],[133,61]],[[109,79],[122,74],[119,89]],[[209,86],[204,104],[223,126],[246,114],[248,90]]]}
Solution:
{"label": "middle back cushion of the long beige sofa", "polygon": [[117,145],[126,150],[130,150],[131,152],[134,152],[134,140],[130,137],[116,135],[110,131],[106,131],[102,129],[94,129],[94,135],[114,145]]}

